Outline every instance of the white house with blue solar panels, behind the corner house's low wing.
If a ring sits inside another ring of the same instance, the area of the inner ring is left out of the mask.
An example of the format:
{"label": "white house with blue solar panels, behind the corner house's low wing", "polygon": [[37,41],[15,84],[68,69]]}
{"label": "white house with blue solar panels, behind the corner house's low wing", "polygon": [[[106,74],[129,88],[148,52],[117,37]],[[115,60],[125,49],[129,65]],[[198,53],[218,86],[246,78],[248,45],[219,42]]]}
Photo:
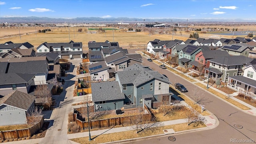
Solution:
{"label": "white house with blue solar panels, behind the corner house's low wing", "polygon": [[107,66],[105,61],[90,64],[88,67],[92,81],[106,81],[110,78],[110,66]]}

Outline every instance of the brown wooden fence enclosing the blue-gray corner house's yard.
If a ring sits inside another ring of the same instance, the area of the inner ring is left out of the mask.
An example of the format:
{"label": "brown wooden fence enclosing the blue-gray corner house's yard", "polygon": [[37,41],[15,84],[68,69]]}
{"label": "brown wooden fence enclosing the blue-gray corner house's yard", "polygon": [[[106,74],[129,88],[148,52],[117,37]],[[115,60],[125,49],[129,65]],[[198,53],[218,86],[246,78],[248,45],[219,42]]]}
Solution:
{"label": "brown wooden fence enclosing the blue-gray corner house's yard", "polygon": [[[110,127],[110,126],[117,126],[117,125],[128,125],[132,124],[131,119],[135,116],[125,116],[125,117],[118,117],[118,118],[108,118],[108,119],[102,119],[102,120],[92,120],[90,121],[90,129],[93,128],[104,128],[104,127]],[[150,121],[152,118],[151,113],[149,110],[147,110],[147,114],[143,114],[142,121]],[[80,128],[88,129],[88,122],[83,122],[77,118],[77,114],[74,114],[74,120],[76,121],[76,124],[80,126]]]}

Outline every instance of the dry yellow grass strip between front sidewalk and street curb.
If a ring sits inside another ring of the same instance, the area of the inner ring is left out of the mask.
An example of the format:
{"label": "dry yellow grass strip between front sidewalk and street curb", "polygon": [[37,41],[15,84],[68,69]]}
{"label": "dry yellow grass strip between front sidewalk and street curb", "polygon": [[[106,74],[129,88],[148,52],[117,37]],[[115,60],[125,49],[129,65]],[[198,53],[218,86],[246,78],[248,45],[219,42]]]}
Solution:
{"label": "dry yellow grass strip between front sidewalk and street curb", "polygon": [[140,133],[136,133],[136,131],[134,130],[129,130],[129,131],[121,132],[122,134],[120,134],[120,132],[111,133],[111,134],[102,134],[102,135],[99,135],[97,138],[94,138],[96,136],[91,136],[91,138],[93,139],[91,142],[88,141],[89,137],[74,138],[70,140],[74,142],[78,142],[80,144],[98,144],[98,143],[104,143],[104,142],[114,142],[118,140],[127,140],[131,138],[141,138],[145,136],[164,134],[163,130],[170,129],[170,128],[172,128],[175,132],[179,132],[183,130],[191,130],[195,128],[205,128],[205,127],[206,127],[205,124],[198,125],[198,126],[190,124],[189,126],[187,126],[187,123],[182,123],[182,124],[175,124],[175,125],[169,125],[169,126],[160,126],[160,127],[154,128],[153,131],[148,130],[146,132],[140,132]]}

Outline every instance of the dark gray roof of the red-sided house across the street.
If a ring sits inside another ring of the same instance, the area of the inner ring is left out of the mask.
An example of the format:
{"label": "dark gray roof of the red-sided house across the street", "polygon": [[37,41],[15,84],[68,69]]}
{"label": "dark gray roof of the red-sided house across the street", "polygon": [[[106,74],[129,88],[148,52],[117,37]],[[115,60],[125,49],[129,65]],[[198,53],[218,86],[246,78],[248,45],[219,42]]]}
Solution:
{"label": "dark gray roof of the red-sided house across the street", "polygon": [[230,56],[226,50],[202,50],[205,59]]}

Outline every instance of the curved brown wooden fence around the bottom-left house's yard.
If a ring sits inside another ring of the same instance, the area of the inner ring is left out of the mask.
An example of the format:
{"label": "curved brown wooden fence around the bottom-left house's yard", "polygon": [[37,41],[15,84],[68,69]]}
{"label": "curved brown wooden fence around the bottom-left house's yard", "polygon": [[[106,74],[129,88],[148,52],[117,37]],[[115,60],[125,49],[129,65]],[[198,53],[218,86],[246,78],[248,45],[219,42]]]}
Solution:
{"label": "curved brown wooden fence around the bottom-left house's yard", "polygon": [[37,124],[30,128],[20,129],[20,130],[8,130],[0,132],[0,140],[10,140],[18,138],[27,138],[33,136],[36,132],[42,129],[44,124],[44,118],[40,120]]}

